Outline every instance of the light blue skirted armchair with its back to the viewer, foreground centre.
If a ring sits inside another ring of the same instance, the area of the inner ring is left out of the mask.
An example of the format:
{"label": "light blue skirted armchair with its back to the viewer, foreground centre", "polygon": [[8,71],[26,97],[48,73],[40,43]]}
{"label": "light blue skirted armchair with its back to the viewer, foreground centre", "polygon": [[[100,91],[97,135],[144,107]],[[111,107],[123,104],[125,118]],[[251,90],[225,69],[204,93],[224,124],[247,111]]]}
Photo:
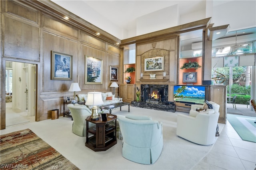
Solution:
{"label": "light blue skirted armchair with its back to the viewer, foreground centre", "polygon": [[162,122],[150,116],[117,115],[123,137],[122,156],[140,164],[154,164],[163,148]]}

